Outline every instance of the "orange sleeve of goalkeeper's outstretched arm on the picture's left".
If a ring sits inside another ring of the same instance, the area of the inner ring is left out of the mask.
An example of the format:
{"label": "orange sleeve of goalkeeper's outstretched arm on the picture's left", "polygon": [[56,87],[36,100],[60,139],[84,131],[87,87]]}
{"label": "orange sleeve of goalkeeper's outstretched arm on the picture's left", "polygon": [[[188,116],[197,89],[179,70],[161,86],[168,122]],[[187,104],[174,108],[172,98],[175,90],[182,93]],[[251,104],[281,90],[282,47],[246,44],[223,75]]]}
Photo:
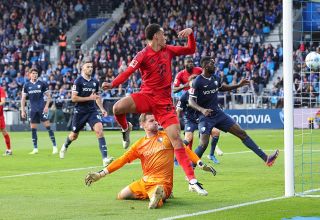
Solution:
{"label": "orange sleeve of goalkeeper's outstretched arm on the picture's left", "polygon": [[123,167],[125,164],[131,163],[135,159],[139,158],[136,148],[139,146],[140,140],[134,143],[125,154],[123,154],[121,157],[119,157],[107,166],[107,170],[109,173],[112,173]]}

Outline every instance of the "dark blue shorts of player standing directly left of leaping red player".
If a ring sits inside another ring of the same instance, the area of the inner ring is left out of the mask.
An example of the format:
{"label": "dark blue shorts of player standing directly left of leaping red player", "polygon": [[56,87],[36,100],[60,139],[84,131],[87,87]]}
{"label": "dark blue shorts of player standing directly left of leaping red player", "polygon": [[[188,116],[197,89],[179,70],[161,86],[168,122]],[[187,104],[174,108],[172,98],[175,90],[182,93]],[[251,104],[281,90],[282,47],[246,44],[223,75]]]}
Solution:
{"label": "dark blue shorts of player standing directly left of leaping red player", "polygon": [[72,118],[72,131],[74,133],[79,133],[86,123],[89,123],[90,127],[93,128],[93,126],[99,122],[102,123],[101,116],[99,115],[98,111],[89,113],[74,113]]}

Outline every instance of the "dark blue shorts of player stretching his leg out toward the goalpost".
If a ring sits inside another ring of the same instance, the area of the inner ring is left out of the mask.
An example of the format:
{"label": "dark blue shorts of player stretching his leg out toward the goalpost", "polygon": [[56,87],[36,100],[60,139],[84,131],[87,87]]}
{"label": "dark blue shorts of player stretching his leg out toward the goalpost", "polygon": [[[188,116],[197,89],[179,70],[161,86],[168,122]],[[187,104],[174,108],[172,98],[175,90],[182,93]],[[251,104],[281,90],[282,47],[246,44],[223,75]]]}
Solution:
{"label": "dark blue shorts of player stretching his leg out toward the goalpost", "polygon": [[211,134],[212,128],[218,128],[221,131],[228,132],[236,122],[223,111],[217,111],[213,116],[200,116],[199,133]]}

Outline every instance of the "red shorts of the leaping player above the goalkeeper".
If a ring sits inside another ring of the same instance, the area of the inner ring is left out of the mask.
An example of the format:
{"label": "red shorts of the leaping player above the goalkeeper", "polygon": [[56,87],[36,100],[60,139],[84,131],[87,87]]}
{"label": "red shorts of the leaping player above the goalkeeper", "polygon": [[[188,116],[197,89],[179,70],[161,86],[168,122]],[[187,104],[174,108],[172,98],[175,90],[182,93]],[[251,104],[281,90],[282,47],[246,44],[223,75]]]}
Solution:
{"label": "red shorts of the leaping player above the goalkeeper", "polygon": [[142,92],[133,93],[131,97],[138,113],[152,113],[163,128],[180,123],[171,97],[164,99]]}

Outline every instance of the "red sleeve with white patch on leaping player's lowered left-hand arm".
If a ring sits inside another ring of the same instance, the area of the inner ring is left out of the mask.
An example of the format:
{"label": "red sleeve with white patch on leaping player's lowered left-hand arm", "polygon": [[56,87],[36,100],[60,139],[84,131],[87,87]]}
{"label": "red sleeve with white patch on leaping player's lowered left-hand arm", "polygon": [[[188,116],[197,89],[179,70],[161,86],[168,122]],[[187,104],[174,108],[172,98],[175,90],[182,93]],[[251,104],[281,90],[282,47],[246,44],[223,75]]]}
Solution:
{"label": "red sleeve with white patch on leaping player's lowered left-hand arm", "polygon": [[113,81],[112,88],[119,86],[124,83],[132,73],[134,73],[137,69],[139,69],[141,63],[143,62],[144,52],[140,51],[131,61],[128,68],[120,73]]}

